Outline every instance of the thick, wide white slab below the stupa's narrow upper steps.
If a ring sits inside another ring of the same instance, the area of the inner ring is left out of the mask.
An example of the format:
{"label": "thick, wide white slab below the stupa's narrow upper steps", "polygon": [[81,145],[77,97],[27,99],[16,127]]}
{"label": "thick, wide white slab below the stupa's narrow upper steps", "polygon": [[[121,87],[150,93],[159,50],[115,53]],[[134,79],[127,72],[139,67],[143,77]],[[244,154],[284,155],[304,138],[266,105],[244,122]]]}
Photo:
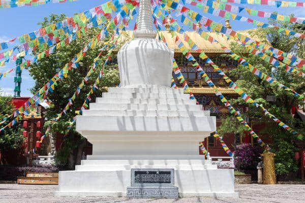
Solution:
{"label": "thick, wide white slab below the stupa's narrow upper steps", "polygon": [[[105,107],[103,104],[96,110]],[[183,106],[174,106],[183,107]],[[199,105],[190,105],[189,107],[199,107]],[[199,107],[200,108],[200,107]],[[94,109],[94,108],[92,108]],[[109,109],[108,107],[106,109]],[[114,109],[115,110],[115,109]],[[192,110],[192,109],[189,109]],[[85,131],[103,131],[101,134],[105,134],[105,131],[148,131],[158,132],[158,134],[166,134],[169,131],[176,132],[177,134],[185,134],[181,139],[194,139],[196,142],[201,142],[199,138],[207,137],[210,132],[216,130],[216,117],[165,117],[165,116],[76,116],[76,130],[80,133],[85,133]],[[192,133],[196,131],[196,133]],[[112,132],[111,132],[112,133]],[[103,134],[103,135],[104,135]],[[118,133],[117,136],[123,136],[120,139],[126,139],[125,133]],[[103,136],[102,136],[103,137]],[[101,138],[102,138],[101,137]],[[168,137],[164,136],[164,139]],[[140,138],[141,139],[141,138]],[[142,138],[143,140],[146,139]],[[151,139],[154,136],[151,135]],[[158,138],[163,139],[163,138]],[[139,139],[138,139],[139,140]]]}

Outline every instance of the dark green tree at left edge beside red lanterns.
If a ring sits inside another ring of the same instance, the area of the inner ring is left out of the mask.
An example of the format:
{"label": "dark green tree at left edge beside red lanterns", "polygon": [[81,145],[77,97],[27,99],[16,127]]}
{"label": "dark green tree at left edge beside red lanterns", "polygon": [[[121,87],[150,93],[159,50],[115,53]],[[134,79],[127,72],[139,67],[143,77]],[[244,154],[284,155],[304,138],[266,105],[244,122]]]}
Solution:
{"label": "dark green tree at left edge beside red lanterns", "polygon": [[[14,105],[12,103],[12,97],[1,94],[0,89],[0,121],[5,117],[11,115],[14,111]],[[2,126],[8,124],[11,119],[8,119]],[[20,125],[14,125],[11,128],[5,128],[0,132],[0,152],[1,162],[4,164],[18,164],[19,158],[22,156],[23,149],[23,136],[22,128]],[[11,155],[11,156],[10,156]],[[15,160],[10,158],[14,157]]]}

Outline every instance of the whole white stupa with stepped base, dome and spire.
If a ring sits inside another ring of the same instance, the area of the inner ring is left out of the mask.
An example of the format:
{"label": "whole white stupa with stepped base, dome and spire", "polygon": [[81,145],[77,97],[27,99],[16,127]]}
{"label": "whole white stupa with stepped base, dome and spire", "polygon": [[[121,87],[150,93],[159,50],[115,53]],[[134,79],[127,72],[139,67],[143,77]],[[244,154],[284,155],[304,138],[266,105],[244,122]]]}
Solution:
{"label": "whole white stupa with stepped base, dome and spire", "polygon": [[61,196],[126,196],[131,168],[174,168],[180,196],[236,196],[233,170],[199,155],[216,130],[182,89],[171,89],[173,50],[156,40],[149,0],[140,0],[135,39],[118,52],[121,87],[109,88],[76,120],[93,155],[75,171],[59,172]]}

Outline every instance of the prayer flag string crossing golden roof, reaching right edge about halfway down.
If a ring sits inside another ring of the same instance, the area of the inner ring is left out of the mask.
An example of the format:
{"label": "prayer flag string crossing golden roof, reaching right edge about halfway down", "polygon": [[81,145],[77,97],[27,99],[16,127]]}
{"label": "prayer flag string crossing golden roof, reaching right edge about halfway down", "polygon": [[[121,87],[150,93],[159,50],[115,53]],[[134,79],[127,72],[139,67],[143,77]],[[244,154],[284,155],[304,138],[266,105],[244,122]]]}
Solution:
{"label": "prayer flag string crossing golden roof, reaching right edge about halfway down", "polygon": [[[261,72],[260,70],[256,69],[256,67],[252,66],[245,59],[241,58],[240,56],[238,56],[237,54],[232,52],[229,48],[225,47],[220,42],[218,42],[215,38],[213,38],[210,35],[208,35],[207,32],[202,31],[201,28],[197,29],[197,32],[201,36],[201,38],[203,38],[204,40],[209,41],[210,43],[213,43],[213,42],[219,43],[221,45],[221,48],[225,52],[227,52],[230,55],[230,57],[232,57],[234,60],[238,61],[241,65],[247,66],[249,71],[251,73],[253,73],[255,76],[257,76],[258,78],[263,79],[263,80],[267,81],[268,83],[275,83],[275,84],[277,84],[279,87],[285,89],[286,91],[293,93],[294,97],[297,97],[297,98],[303,99],[303,100],[305,99],[303,94],[298,94],[293,89],[290,89],[289,87],[287,87],[287,86],[281,84],[280,82],[278,82],[276,79],[274,79],[274,78],[268,76],[267,74]],[[186,37],[185,40],[190,44],[190,46],[195,44],[190,38]],[[252,54],[259,55],[259,53],[260,53],[259,51],[255,50],[255,53],[252,53]],[[273,63],[271,63],[271,64],[273,64]],[[286,72],[290,73],[291,72],[290,70],[291,70],[290,68],[286,68]]]}

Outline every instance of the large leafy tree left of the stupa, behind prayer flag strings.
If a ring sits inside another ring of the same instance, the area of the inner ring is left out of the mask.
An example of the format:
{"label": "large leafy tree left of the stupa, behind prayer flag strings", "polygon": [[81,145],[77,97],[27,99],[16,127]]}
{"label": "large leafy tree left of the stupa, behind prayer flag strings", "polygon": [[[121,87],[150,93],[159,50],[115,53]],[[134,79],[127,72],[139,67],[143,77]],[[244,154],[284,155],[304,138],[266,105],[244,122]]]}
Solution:
{"label": "large leafy tree left of the stupa, behind prayer flag strings", "polygon": [[[51,23],[63,20],[65,17],[64,14],[60,16],[51,14],[49,18],[45,17],[44,21],[38,24],[47,26]],[[35,86],[32,88],[32,93],[39,90],[60,69],[62,69],[62,67],[69,62],[75,54],[77,54],[91,39],[97,36],[99,31],[101,31],[100,28],[90,28],[71,44],[59,48],[54,54],[50,54],[48,57],[44,57],[39,62],[31,65],[29,72],[35,80]],[[109,36],[111,36],[112,33],[113,30],[109,33]],[[70,168],[74,167],[75,163],[80,163],[83,147],[86,144],[86,139],[81,137],[81,135],[75,130],[75,127],[72,127],[71,130],[67,130],[70,121],[75,116],[75,111],[80,110],[86,98],[86,94],[90,90],[90,86],[94,84],[95,79],[102,68],[104,69],[104,77],[99,84],[99,90],[93,94],[93,99],[95,96],[101,96],[101,93],[106,91],[103,87],[111,87],[119,84],[117,65],[109,64],[103,67],[107,52],[104,52],[100,57],[100,62],[96,67],[96,72],[90,76],[90,79],[82,88],[78,97],[74,100],[74,104],[70,107],[70,110],[67,111],[67,115],[63,114],[62,118],[57,122],[52,122],[51,119],[56,118],[57,114],[65,108],[68,99],[72,97],[77,86],[86,76],[93,64],[94,58],[96,58],[100,52],[99,49],[102,48],[105,43],[108,44],[108,47],[112,45],[112,41],[107,37],[103,42],[99,43],[97,47],[88,50],[86,55],[79,62],[79,67],[77,69],[71,69],[68,77],[63,81],[59,81],[54,92],[48,94],[48,98],[52,101],[54,108],[49,109],[46,113],[48,121],[45,122],[45,127],[51,126],[50,137],[56,137],[57,133],[64,134],[62,148],[56,153],[55,158],[60,162],[60,164],[69,165]],[[41,51],[43,50],[37,49],[35,53],[40,53]],[[111,58],[116,58],[116,54],[112,53]]]}

